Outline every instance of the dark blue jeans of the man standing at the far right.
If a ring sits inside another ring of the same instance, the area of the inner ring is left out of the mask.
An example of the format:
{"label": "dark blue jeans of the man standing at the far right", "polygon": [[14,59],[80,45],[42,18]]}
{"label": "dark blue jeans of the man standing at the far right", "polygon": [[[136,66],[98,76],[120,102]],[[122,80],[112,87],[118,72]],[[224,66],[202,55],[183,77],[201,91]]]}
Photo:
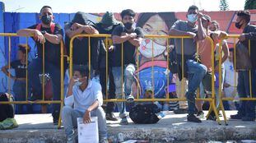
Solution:
{"label": "dark blue jeans of the man standing at the far right", "polygon": [[[256,75],[255,71],[251,71],[252,79],[252,97],[256,97]],[[237,91],[240,98],[250,97],[249,89],[249,71],[238,72],[238,85]],[[240,101],[240,108],[238,114],[242,117],[255,118],[255,101]]]}

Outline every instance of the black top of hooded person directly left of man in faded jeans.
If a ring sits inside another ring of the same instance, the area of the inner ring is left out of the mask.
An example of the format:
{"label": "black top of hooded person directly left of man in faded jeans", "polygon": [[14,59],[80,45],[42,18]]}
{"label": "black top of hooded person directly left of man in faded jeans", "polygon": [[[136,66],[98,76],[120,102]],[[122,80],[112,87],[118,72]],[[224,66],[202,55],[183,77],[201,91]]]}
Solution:
{"label": "black top of hooded person directly left of man in faded jeans", "polygon": [[[95,25],[95,29],[98,30],[100,34],[111,35],[112,32],[113,32],[113,30],[114,30],[114,28],[117,27],[117,26],[119,26],[119,25],[120,25],[120,24],[113,25],[113,27],[112,27],[111,30],[105,30],[105,29],[102,27],[102,24],[101,24],[101,23],[97,23],[97,24]],[[113,44],[113,41],[112,41],[111,38],[108,38],[107,41],[106,41],[106,38],[104,38],[104,37],[100,38],[100,56],[99,56],[99,67],[100,67],[100,68],[105,68],[105,67],[106,67],[106,47],[105,47],[105,46],[106,46],[106,45],[105,45],[106,42],[107,42],[107,44],[108,44],[108,47]],[[110,54],[110,53],[113,53],[113,51],[109,51],[109,54]],[[113,61],[113,59],[111,59],[111,58],[113,58],[113,57],[108,56],[109,61]],[[111,63],[108,62],[108,64],[109,64],[109,67],[112,66]]]}

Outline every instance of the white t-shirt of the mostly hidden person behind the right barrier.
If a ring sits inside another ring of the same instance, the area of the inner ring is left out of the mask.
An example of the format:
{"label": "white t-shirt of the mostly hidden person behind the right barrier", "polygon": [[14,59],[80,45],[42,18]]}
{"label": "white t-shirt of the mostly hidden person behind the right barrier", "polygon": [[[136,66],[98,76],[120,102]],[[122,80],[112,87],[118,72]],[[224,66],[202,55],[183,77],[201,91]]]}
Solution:
{"label": "white t-shirt of the mostly hidden person behind the right barrier", "polygon": [[237,85],[238,74],[237,74],[237,72],[234,71],[233,62],[230,62],[230,60],[227,59],[224,62],[224,66],[225,66],[225,80],[224,80],[225,83],[227,83],[231,86],[236,86]]}

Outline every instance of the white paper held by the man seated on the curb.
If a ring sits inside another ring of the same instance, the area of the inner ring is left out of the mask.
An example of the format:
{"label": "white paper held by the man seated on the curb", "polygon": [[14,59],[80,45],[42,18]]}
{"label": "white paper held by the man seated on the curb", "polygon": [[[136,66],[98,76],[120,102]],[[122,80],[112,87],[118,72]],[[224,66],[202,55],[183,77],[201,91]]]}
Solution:
{"label": "white paper held by the man seated on the curb", "polygon": [[99,143],[98,118],[91,117],[90,123],[84,123],[77,118],[77,132],[79,143]]}

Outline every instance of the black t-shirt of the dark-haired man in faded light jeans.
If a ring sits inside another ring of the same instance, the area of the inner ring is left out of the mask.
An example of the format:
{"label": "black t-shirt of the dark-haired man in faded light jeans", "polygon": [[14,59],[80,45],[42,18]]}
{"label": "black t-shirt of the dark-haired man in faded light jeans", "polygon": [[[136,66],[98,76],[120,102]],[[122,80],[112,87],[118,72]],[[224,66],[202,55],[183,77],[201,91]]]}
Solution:
{"label": "black t-shirt of the dark-haired man in faded light jeans", "polygon": [[[121,36],[122,33],[128,33],[128,31],[125,30],[123,25],[119,25],[114,29],[112,36],[113,35]],[[142,29],[140,27],[137,27],[135,30],[129,33],[136,33],[137,37],[140,37],[140,38],[144,37],[142,33]],[[127,65],[129,63],[135,64],[135,58],[134,58],[135,51],[136,51],[136,46],[131,44],[129,41],[125,41],[123,43],[123,65]],[[113,64],[113,67],[122,66],[121,54],[122,54],[122,44],[114,44],[114,52],[109,54],[109,56],[113,57],[113,61],[111,61],[111,64]]]}

